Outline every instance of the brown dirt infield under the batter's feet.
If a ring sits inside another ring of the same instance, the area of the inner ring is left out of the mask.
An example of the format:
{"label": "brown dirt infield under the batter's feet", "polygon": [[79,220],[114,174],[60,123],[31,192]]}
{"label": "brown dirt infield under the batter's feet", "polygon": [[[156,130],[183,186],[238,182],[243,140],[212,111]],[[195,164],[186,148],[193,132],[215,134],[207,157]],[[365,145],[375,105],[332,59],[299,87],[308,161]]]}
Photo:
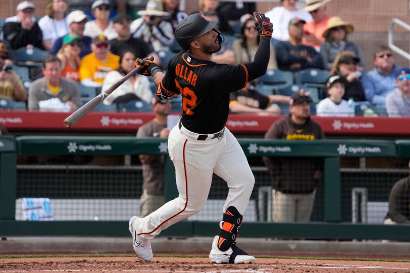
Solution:
{"label": "brown dirt infield under the batter's feet", "polygon": [[256,264],[212,264],[208,258],[132,257],[0,259],[0,272],[410,272],[410,263],[257,258]]}

